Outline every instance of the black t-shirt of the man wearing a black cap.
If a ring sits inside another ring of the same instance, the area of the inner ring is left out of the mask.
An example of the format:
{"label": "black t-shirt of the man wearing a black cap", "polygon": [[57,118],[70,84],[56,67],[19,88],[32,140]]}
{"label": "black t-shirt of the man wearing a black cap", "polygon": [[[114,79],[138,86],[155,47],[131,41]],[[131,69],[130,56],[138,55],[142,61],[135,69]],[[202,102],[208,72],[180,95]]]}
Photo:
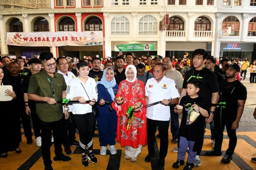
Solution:
{"label": "black t-shirt of the man wearing a black cap", "polygon": [[[221,92],[222,89],[236,82],[238,82],[238,84],[229,87],[224,92]],[[238,80],[234,82],[228,82],[227,80],[223,80],[219,82],[219,90],[220,92],[219,92],[218,103],[226,102],[226,105],[227,105],[226,108],[222,108],[222,116],[232,115],[236,117],[238,112],[238,100],[247,99],[246,87]],[[216,114],[219,115],[219,113],[220,113],[220,107],[216,107],[214,117],[216,116]]]}

